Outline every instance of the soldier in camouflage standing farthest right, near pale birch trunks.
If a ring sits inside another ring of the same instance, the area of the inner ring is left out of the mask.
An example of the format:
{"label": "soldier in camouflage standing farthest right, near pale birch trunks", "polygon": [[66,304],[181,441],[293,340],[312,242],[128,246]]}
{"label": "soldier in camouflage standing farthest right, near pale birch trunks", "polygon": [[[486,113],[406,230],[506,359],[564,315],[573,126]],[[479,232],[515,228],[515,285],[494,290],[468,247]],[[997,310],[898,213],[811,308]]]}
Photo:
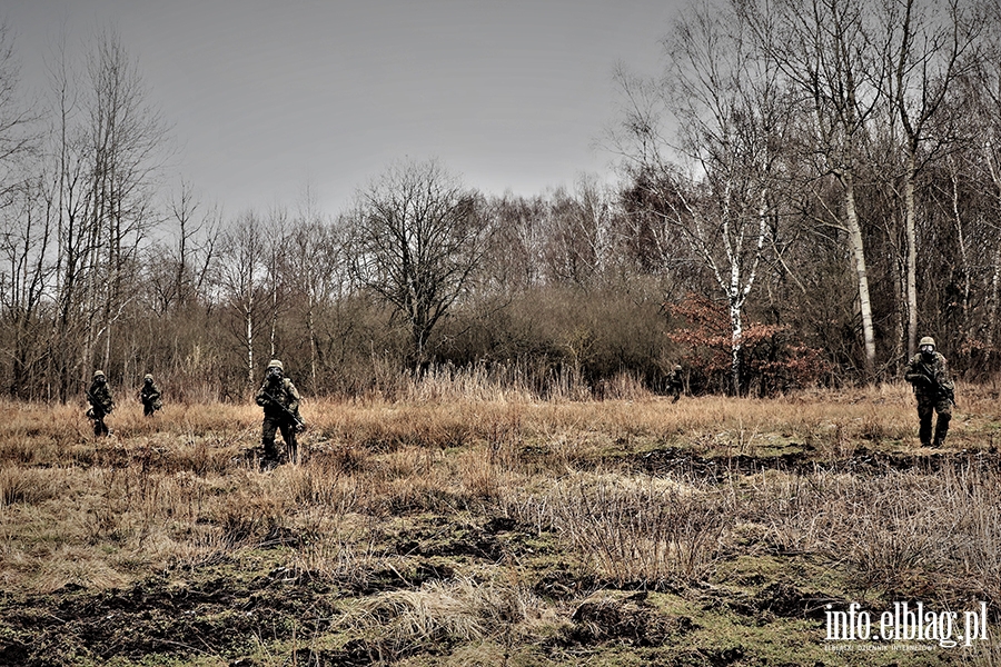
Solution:
{"label": "soldier in camouflage standing farthest right, near pale birch trunks", "polygon": [[[924,447],[941,447],[949,432],[952,419],[952,406],[955,405],[955,386],[949,378],[945,357],[935,350],[935,340],[925,336],[918,344],[918,354],[908,364],[904,374],[914,387],[918,398],[918,418],[921,426],[918,435]],[[939,414],[935,421],[934,440],[932,440],[932,416]]]}

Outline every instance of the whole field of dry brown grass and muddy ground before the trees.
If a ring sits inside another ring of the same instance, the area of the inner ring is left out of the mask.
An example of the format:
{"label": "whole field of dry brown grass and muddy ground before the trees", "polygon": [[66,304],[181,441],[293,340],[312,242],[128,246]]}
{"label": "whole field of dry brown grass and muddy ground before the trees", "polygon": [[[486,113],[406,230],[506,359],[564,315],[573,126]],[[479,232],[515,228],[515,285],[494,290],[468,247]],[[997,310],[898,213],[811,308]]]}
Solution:
{"label": "whole field of dry brown grass and muddy ground before the trees", "polygon": [[96,440],[0,404],[0,665],[1001,665],[825,640],[852,603],[1001,633],[997,387],[941,450],[903,385],[620,394],[307,400],[271,471],[250,405],[126,405]]}

